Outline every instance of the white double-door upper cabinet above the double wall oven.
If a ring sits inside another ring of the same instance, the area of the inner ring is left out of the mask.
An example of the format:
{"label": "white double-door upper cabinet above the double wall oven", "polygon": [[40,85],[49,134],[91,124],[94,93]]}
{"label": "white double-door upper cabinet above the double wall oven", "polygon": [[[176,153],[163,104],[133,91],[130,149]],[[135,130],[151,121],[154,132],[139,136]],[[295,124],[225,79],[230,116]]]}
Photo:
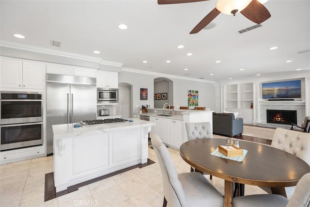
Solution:
{"label": "white double-door upper cabinet above the double wall oven", "polygon": [[45,89],[45,64],[0,60],[0,88]]}

